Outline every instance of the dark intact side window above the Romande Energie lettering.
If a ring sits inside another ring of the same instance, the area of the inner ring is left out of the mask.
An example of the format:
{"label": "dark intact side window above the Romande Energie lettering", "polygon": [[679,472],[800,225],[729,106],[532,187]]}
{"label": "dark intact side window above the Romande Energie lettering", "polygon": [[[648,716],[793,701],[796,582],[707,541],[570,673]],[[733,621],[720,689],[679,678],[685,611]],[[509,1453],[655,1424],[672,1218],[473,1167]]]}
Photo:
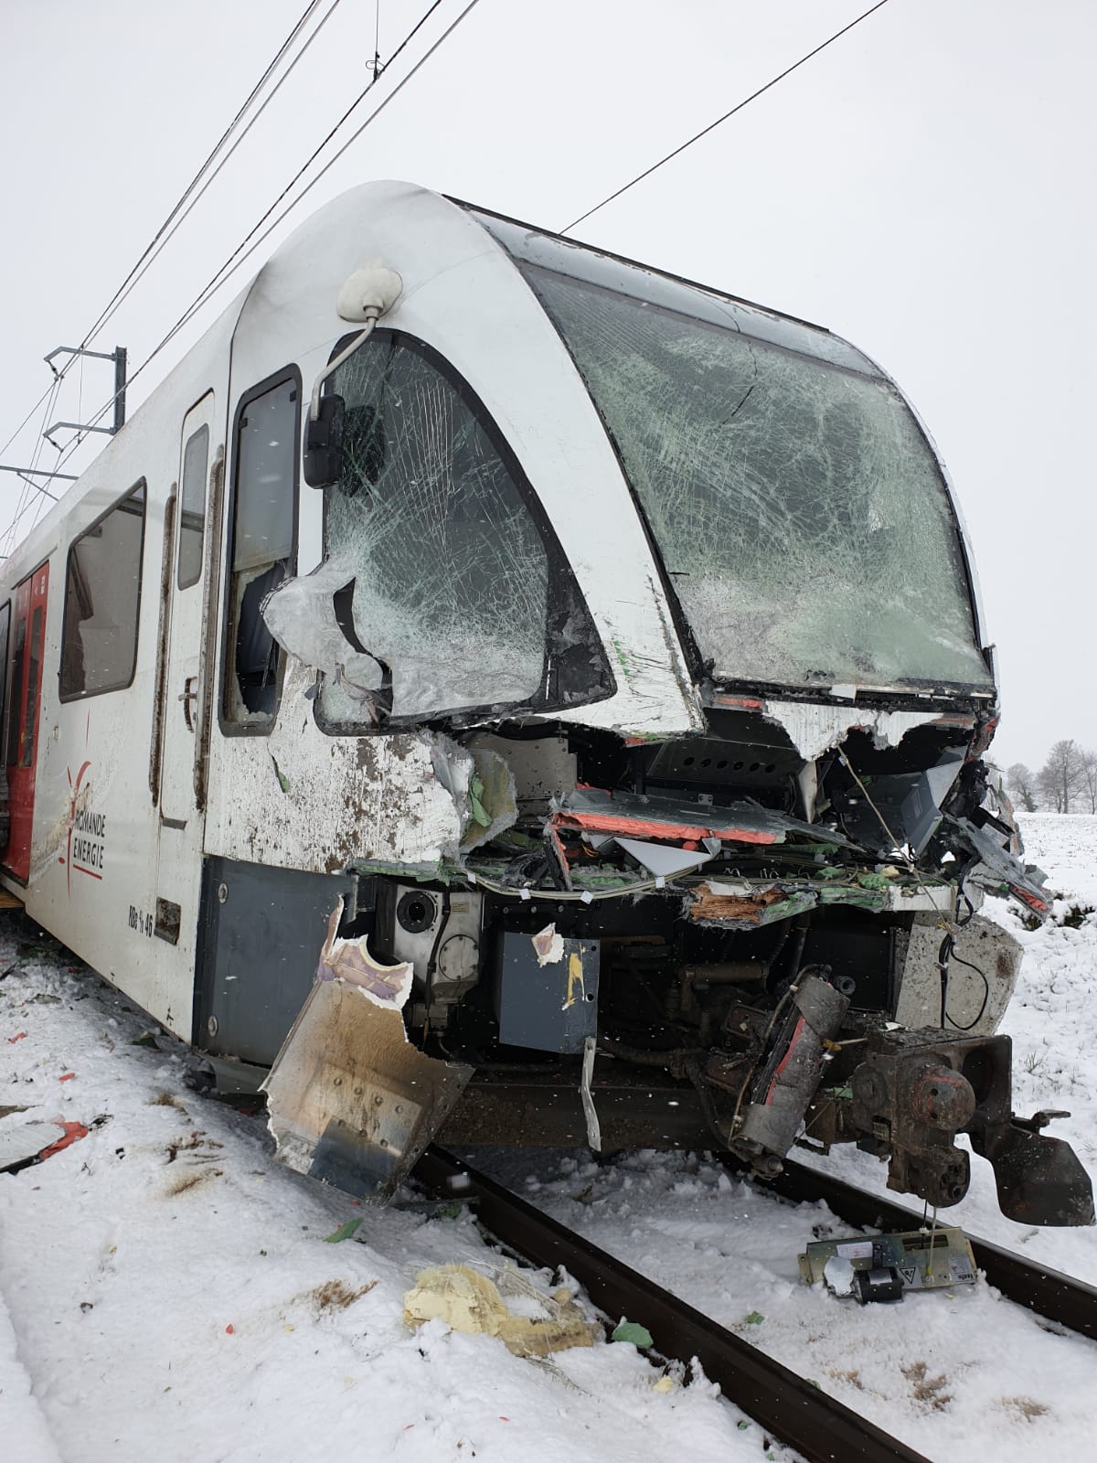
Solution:
{"label": "dark intact side window above the Romande Energie lettering", "polygon": [[[145,483],[85,530],[64,576],[60,698],[121,691],[137,664]],[[34,632],[31,635],[34,642]],[[34,655],[34,648],[32,648]],[[31,667],[34,673],[34,666]],[[28,695],[28,705],[31,696]]]}

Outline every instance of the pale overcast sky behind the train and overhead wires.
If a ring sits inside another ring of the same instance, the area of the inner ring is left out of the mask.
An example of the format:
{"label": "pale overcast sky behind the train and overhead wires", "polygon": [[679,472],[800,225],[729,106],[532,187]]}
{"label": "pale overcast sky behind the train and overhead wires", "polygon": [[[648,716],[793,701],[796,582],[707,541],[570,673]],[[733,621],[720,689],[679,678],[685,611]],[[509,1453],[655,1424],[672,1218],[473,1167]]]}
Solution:
{"label": "pale overcast sky behind the train and overhead wires", "polygon": [[[382,59],[427,3],[380,0]],[[465,3],[443,0],[341,136]],[[867,3],[478,0],[130,407],[326,198],[410,178],[562,228]],[[304,4],[4,0],[0,442],[48,386],[41,357],[88,331]],[[339,0],[98,348],[126,345],[132,369],[149,354],[364,86],[376,20],[374,0]],[[974,543],[1006,764],[1038,765],[1060,736],[1097,745],[1094,56],[1093,0],[889,0],[576,230],[826,325],[898,380]],[[89,363],[54,415],[108,395],[110,367]],[[39,426],[1,459],[26,464]],[[20,493],[0,474],[0,530]]]}

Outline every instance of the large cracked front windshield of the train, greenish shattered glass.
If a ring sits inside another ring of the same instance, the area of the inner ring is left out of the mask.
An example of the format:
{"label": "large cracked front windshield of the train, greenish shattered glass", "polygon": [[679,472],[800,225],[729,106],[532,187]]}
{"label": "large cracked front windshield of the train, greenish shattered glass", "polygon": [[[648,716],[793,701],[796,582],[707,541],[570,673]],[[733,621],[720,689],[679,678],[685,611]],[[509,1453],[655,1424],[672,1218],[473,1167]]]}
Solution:
{"label": "large cracked front windshield of the train, greenish shattered glass", "polygon": [[[761,313],[771,338],[747,334],[749,312],[731,303],[718,323],[720,303],[701,290],[674,285],[696,296],[686,315],[521,268],[587,380],[717,677],[992,686],[936,462],[867,361],[840,364],[841,342],[812,354],[778,344]],[[617,277],[635,277],[625,288],[654,279],[630,266]],[[796,322],[785,334],[832,339]]]}

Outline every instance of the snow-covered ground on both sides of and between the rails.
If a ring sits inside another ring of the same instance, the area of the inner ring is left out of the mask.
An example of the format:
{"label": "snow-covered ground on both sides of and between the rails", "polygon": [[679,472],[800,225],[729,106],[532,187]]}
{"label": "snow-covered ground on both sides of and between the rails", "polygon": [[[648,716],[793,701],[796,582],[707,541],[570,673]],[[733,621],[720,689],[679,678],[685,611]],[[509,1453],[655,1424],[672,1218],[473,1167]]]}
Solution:
{"label": "snow-covered ground on both sides of and between the rails", "polygon": [[[1031,816],[1024,832],[1028,857],[1066,895],[1060,916],[1097,904],[1097,819]],[[1005,1023],[1015,1106],[1069,1107],[1056,1131],[1097,1176],[1097,916],[1027,932],[992,904],[1025,944]],[[135,1045],[139,1014],[3,925],[0,971],[0,1132],[28,1118],[91,1127],[0,1176],[3,1463],[785,1456],[704,1378],[668,1383],[627,1343],[534,1362],[439,1321],[408,1331],[404,1293],[423,1267],[496,1263],[467,1216],[364,1211],[281,1169],[257,1118],[183,1087],[181,1049]],[[866,1308],[810,1290],[796,1257],[821,1226],[841,1226],[821,1206],[777,1204],[730,1181],[704,1156],[493,1162],[535,1203],[930,1459],[1097,1459],[1097,1344],[1055,1334],[984,1283]],[[882,1186],[875,1162],[845,1154],[841,1166]],[[1097,1230],[1003,1220],[989,1167],[973,1167],[949,1217],[1097,1280]],[[355,1238],[325,1242],[361,1216]]]}

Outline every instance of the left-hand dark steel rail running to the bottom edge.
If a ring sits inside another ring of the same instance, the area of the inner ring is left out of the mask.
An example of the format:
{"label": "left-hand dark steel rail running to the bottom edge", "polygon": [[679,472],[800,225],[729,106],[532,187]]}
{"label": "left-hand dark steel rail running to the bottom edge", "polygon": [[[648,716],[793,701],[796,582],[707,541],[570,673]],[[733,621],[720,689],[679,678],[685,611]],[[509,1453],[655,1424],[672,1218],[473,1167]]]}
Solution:
{"label": "left-hand dark steel rail running to the bottom edge", "polygon": [[927,1463],[924,1454],[445,1148],[427,1148],[414,1176],[446,1197],[474,1200],[481,1222],[505,1246],[535,1265],[563,1265],[607,1315],[646,1325],[664,1356],[686,1364],[696,1358],[728,1402],[809,1463]]}

